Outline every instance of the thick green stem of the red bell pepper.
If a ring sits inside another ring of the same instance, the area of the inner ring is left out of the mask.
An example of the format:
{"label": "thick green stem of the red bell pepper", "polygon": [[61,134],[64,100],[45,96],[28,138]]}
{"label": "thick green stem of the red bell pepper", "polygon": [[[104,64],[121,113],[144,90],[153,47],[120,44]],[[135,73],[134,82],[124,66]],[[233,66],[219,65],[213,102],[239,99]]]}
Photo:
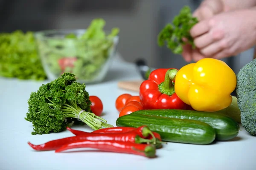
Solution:
{"label": "thick green stem of the red bell pepper", "polygon": [[175,68],[171,68],[166,71],[164,81],[158,85],[158,89],[162,94],[167,94],[171,96],[175,93],[173,81],[175,81],[177,72],[178,70]]}

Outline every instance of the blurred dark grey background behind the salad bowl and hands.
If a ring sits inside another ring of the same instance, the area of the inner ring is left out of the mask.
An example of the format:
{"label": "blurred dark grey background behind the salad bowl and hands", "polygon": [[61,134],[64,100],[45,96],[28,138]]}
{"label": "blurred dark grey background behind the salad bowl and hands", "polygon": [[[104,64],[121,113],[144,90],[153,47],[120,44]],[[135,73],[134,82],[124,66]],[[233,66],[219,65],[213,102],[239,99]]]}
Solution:
{"label": "blurred dark grey background behind the salad bowl and hands", "polygon": [[[180,68],[180,55],[158,47],[157,34],[184,5],[192,11],[201,0],[0,0],[0,32],[87,28],[101,17],[106,29],[119,27],[117,51],[125,61],[146,60],[153,68]],[[237,73],[253,59],[253,49],[223,59]]]}

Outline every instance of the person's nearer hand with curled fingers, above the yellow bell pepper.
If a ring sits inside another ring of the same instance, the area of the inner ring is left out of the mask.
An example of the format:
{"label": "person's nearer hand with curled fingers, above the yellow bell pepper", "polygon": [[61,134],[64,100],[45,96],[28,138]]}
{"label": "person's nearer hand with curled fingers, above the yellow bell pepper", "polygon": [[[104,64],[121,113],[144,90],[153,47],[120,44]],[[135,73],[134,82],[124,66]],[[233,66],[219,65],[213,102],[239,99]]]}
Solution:
{"label": "person's nearer hand with curled fingers, above the yellow bell pepper", "polygon": [[205,57],[221,59],[237,55],[256,42],[256,10],[230,11],[202,20],[192,27],[196,49],[185,45],[183,58],[190,62]]}

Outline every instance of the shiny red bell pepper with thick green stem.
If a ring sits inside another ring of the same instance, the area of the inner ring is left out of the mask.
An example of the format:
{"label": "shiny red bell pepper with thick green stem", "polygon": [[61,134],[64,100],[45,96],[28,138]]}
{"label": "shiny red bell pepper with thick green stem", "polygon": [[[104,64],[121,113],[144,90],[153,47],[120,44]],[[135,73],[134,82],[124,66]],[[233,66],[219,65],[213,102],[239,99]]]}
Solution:
{"label": "shiny red bell pepper with thick green stem", "polygon": [[159,68],[151,72],[140,85],[143,109],[186,109],[174,90],[176,68]]}

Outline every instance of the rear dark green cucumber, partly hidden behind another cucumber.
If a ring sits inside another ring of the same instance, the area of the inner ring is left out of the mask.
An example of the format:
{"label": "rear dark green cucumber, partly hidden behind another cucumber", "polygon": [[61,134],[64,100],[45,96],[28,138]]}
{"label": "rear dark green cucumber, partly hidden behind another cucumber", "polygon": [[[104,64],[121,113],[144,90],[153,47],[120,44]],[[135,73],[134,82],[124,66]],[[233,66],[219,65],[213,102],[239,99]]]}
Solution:
{"label": "rear dark green cucumber, partly hidden behind another cucumber", "polygon": [[217,141],[233,139],[239,133],[239,124],[231,117],[221,113],[209,113],[202,111],[177,110],[177,109],[154,109],[140,110],[132,114],[148,116],[161,116],[177,119],[191,119],[205,122],[212,126],[216,132]]}

